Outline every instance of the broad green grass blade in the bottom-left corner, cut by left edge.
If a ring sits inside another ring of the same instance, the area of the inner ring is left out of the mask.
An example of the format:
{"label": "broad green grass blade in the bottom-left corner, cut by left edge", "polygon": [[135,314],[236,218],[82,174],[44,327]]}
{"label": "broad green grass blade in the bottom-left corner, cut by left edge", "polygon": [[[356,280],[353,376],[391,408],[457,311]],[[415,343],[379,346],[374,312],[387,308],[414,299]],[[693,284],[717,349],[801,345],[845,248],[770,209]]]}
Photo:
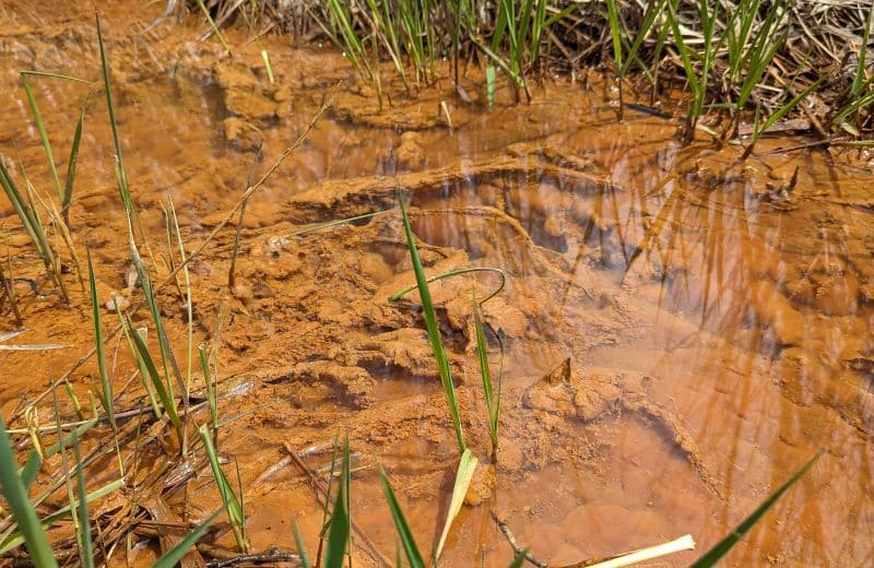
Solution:
{"label": "broad green grass blade in the bottom-left corner, cut by left edge", "polygon": [[36,568],[56,568],[58,563],[51,553],[48,537],[39,524],[39,519],[27,498],[27,492],[16,470],[15,455],[12,453],[5,422],[0,414],[0,487],[3,490],[3,497],[24,534],[27,552],[31,553],[31,561]]}

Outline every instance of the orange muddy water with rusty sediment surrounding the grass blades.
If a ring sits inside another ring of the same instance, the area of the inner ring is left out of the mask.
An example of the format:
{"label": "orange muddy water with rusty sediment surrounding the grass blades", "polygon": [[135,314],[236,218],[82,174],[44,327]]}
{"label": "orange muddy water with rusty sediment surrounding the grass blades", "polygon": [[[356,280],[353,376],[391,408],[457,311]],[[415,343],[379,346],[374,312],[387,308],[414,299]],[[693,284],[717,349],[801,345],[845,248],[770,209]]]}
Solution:
{"label": "orange muddy water with rusty sediment surrounding the grass blades", "polygon": [[[190,264],[194,345],[217,344],[221,416],[244,413],[222,428],[220,451],[238,460],[252,549],[294,551],[293,519],[316,549],[321,507],[288,454],[323,468],[345,434],[358,468],[352,514],[366,535],[354,537],[357,561],[376,565],[395,552],[376,464],[390,475],[423,552],[439,539],[458,453],[418,297],[389,299],[414,283],[395,209],[401,188],[428,274],[469,267],[507,274],[483,306],[495,374],[501,342],[506,351],[494,463],[472,294],[483,297],[500,280],[480,272],[432,285],[465,434],[481,459],[444,565],[508,564],[512,551],[489,510],[551,566],[690,533],[696,553],[650,564],[686,565],[819,450],[810,474],[727,564],[874,563],[874,176],[865,156],[775,152],[801,139],[765,139],[746,162],[737,146],[716,149],[704,135],[682,147],[676,122],[629,110],[617,123],[594,76],[589,86],[547,80],[530,105],[513,105],[499,88],[488,111],[474,69],[462,81],[470,103],[448,80],[408,95],[387,73],[380,110],[327,46],[265,37],[276,75],[270,84],[259,49],[241,33],[227,32],[236,46],[229,57],[214,39],[198,42],[204,28],[193,16],[144,31],[163,7],[141,4],[102,8],[125,165],[155,282],[170,270],[162,205],[173,200],[190,253],[239,201],[259,143],[263,174],[330,103],[248,202],[234,288],[236,215]],[[99,81],[91,10],[88,2],[0,3],[0,152],[20,186],[24,168],[45,199],[55,189],[17,72]],[[103,91],[31,82],[61,176],[84,105],[72,239],[80,261],[91,247],[101,301],[115,295],[135,307],[141,289],[128,277]],[[388,213],[295,235],[381,210]],[[0,403],[12,427],[25,425],[23,409],[94,343],[87,295],[57,245],[70,269],[70,306],[40,273],[10,204],[0,204],[0,255],[7,275],[21,279],[15,291],[29,330],[7,343],[69,345],[0,351]],[[180,276],[158,300],[185,374],[184,292]],[[15,329],[9,303],[0,310],[0,331]],[[102,311],[114,328],[114,311]],[[131,317],[151,327],[147,310]],[[154,338],[152,329],[156,350]],[[107,353],[117,412],[146,404],[139,379],[129,380],[127,344],[113,338]],[[71,374],[81,400],[96,377],[93,359]],[[74,421],[62,391],[61,399],[64,421]],[[54,424],[50,397],[31,416]],[[205,410],[192,416],[209,419]],[[152,480],[143,493],[177,519],[204,519],[221,504],[209,466],[200,455],[181,462],[193,471],[179,490],[172,430],[149,431],[157,434],[139,448],[128,488],[93,513],[109,523],[118,510],[149,509],[131,487]],[[108,439],[104,428],[92,435]],[[22,436],[20,448],[27,443]],[[133,442],[122,453],[132,450]],[[117,475],[113,460],[104,465],[90,473],[95,486]],[[160,517],[154,510],[143,516]],[[157,540],[143,526],[113,564],[154,558]],[[213,539],[233,549],[226,525]]]}

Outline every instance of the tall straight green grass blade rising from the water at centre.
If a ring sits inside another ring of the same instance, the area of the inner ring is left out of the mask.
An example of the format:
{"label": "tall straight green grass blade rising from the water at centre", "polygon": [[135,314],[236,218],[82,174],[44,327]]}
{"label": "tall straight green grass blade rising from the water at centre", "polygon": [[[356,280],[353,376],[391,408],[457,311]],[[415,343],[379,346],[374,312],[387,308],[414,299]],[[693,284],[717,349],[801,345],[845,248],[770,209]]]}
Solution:
{"label": "tall straight green grass blade rising from the water at centre", "polygon": [[452,382],[452,372],[449,369],[449,359],[444,348],[442,338],[440,338],[440,329],[437,326],[437,315],[434,311],[434,305],[430,299],[430,289],[428,288],[428,281],[425,277],[425,269],[422,267],[422,259],[418,257],[418,249],[416,248],[415,238],[413,237],[413,228],[410,225],[410,216],[406,214],[406,203],[403,199],[403,193],[398,190],[398,200],[401,205],[401,215],[403,216],[403,229],[406,234],[406,246],[410,249],[410,259],[413,263],[413,272],[416,276],[416,285],[418,286],[418,296],[422,299],[422,311],[425,317],[425,327],[428,331],[428,340],[430,341],[432,350],[434,351],[434,358],[437,360],[437,370],[440,376],[444,391],[446,392],[446,401],[449,406],[449,415],[452,418],[452,425],[456,428],[456,438],[460,452],[464,452],[468,448],[464,443],[464,433],[461,428],[461,412],[459,410],[458,400],[456,398],[456,386]]}

